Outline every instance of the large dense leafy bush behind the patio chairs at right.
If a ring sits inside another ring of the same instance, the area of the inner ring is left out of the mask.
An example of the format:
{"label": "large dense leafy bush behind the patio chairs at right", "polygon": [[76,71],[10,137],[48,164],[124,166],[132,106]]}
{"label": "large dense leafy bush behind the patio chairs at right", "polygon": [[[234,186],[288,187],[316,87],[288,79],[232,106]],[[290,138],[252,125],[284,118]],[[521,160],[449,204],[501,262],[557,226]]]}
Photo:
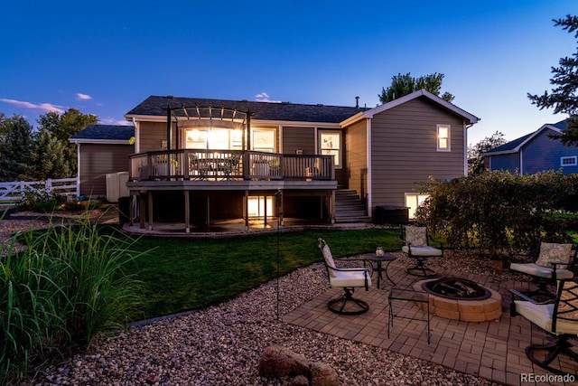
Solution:
{"label": "large dense leafy bush behind the patio chairs at right", "polygon": [[478,246],[492,256],[528,249],[537,240],[564,240],[578,209],[578,176],[548,172],[488,172],[424,185],[430,197],[417,220],[456,247]]}

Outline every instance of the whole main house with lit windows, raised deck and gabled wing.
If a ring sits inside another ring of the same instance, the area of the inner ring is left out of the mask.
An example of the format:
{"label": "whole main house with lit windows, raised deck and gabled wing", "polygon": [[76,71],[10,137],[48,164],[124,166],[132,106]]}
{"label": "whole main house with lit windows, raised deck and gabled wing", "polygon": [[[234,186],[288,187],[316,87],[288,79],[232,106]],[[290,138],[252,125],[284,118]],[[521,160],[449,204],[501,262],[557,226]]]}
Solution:
{"label": "whole main house with lit windows, raised deck and gabled wing", "polygon": [[376,108],[151,96],[126,118],[131,221],[186,232],[226,219],[248,229],[253,218],[369,221],[379,205],[415,209],[420,182],[467,173],[467,129],[479,121],[424,89]]}

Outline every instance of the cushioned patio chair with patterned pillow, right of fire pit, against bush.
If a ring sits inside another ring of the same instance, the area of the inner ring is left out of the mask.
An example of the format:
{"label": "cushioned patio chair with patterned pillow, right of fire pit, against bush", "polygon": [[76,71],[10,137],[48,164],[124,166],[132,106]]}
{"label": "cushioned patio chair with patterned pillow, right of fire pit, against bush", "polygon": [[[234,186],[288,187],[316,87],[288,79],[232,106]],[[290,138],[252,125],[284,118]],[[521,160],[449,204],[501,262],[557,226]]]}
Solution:
{"label": "cushioned patio chair with patterned pillow, right of fire pit, against bush", "polygon": [[509,268],[533,279],[537,288],[527,292],[527,296],[554,298],[555,294],[548,289],[548,285],[555,284],[557,279],[573,278],[570,266],[575,262],[578,249],[572,250],[572,244],[540,241],[536,252],[530,254],[530,256],[537,256],[536,262],[510,263]]}

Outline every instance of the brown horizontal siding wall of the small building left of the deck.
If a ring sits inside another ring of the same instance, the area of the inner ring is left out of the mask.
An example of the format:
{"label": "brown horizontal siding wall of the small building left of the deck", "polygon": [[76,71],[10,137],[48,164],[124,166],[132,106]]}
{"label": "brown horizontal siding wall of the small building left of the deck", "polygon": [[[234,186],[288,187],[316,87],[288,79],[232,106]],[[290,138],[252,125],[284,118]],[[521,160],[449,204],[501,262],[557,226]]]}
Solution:
{"label": "brown horizontal siding wall of the small building left of the deck", "polygon": [[128,171],[130,145],[80,145],[80,194],[106,197],[107,174]]}

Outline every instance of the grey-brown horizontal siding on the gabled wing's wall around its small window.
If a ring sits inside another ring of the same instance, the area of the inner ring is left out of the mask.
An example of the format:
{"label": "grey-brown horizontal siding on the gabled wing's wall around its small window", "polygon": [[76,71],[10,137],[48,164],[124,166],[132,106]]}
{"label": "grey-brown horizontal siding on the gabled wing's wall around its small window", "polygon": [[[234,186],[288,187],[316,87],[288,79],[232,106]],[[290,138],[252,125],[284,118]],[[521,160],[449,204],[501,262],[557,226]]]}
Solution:
{"label": "grey-brown horizontal siding on the gabled wing's wall around its small window", "polygon": [[[437,151],[436,125],[451,125],[450,152]],[[413,99],[374,116],[371,121],[372,203],[405,205],[405,193],[417,192],[430,176],[464,174],[463,118],[428,99]]]}

